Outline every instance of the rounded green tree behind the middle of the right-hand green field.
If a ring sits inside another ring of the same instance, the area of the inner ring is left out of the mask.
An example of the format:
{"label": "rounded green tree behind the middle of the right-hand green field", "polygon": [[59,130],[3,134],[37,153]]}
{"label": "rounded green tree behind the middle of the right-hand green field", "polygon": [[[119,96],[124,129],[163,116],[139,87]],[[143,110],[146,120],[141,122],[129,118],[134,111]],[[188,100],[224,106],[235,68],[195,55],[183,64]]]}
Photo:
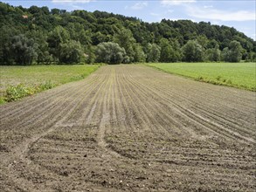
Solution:
{"label": "rounded green tree behind the middle of the right-hand green field", "polygon": [[197,40],[189,40],[183,46],[183,59],[187,62],[198,62],[204,60],[204,49]]}

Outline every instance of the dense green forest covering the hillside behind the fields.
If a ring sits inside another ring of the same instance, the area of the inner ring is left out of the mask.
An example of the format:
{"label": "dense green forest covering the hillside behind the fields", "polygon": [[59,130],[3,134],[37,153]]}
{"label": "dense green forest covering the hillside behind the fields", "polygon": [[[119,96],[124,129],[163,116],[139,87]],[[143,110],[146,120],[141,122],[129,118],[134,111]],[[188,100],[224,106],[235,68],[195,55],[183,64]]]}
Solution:
{"label": "dense green forest covering the hillside behind the fields", "polygon": [[0,3],[0,65],[256,61],[256,41],[190,20],[147,23],[103,11]]}

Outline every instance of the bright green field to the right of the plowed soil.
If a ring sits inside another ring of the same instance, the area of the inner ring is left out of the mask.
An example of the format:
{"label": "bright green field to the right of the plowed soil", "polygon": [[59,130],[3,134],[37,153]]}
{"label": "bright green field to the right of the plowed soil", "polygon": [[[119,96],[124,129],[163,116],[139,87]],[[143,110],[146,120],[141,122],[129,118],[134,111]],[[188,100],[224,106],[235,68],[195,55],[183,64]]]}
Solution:
{"label": "bright green field to the right of the plowed soil", "polygon": [[255,63],[152,63],[146,65],[163,72],[178,74],[211,84],[256,91]]}

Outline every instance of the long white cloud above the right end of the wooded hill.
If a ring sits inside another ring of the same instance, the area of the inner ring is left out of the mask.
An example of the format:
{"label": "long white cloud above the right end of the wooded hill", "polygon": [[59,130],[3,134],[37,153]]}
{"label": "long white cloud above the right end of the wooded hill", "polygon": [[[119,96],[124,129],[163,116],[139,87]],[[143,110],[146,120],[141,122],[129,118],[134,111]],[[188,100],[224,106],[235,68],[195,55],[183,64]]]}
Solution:
{"label": "long white cloud above the right end of the wooded hill", "polygon": [[187,13],[190,17],[200,19],[210,19],[215,21],[252,21],[255,20],[255,12],[247,10],[211,10],[200,9],[198,7],[187,7]]}

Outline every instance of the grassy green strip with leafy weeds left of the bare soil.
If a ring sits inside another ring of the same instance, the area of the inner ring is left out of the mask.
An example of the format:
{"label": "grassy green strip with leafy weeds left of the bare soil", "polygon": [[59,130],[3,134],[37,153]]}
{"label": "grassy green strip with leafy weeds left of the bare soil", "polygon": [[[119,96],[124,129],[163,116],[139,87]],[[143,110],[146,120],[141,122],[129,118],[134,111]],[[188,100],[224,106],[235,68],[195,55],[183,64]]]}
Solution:
{"label": "grassy green strip with leafy weeds left of the bare soil", "polygon": [[0,66],[0,104],[86,78],[100,65]]}

